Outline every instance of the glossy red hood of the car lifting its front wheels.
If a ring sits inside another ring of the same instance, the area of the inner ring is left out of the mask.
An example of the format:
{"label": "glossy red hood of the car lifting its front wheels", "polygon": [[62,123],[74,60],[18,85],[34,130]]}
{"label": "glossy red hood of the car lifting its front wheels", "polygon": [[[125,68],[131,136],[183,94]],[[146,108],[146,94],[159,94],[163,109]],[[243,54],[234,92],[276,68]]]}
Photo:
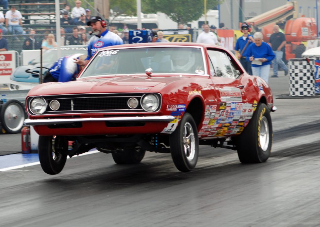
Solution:
{"label": "glossy red hood of the car lifting its front wheels", "polygon": [[[92,77],[65,83],[44,83],[31,89],[28,96],[78,93],[149,92],[153,87],[159,90],[171,82],[190,80],[190,76],[126,75]],[[180,82],[179,82],[180,83]]]}

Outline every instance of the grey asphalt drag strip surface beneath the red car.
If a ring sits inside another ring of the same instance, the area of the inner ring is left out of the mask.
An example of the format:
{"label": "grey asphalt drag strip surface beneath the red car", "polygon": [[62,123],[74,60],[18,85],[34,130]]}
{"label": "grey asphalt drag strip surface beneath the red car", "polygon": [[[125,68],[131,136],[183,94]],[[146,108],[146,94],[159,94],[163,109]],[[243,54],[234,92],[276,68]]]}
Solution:
{"label": "grey asphalt drag strip surface beneath the red car", "polygon": [[0,172],[0,225],[318,226],[319,104],[275,99],[266,163],[244,165],[235,151],[201,146],[189,173],[158,153],[132,166],[94,153],[68,159],[55,176],[39,165]]}

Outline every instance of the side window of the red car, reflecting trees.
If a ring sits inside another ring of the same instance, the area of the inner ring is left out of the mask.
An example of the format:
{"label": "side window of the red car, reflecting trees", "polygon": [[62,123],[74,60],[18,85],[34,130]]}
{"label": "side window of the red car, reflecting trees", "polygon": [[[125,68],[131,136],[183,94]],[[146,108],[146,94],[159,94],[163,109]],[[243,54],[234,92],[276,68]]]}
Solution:
{"label": "side window of the red car, reflecting trees", "polygon": [[231,62],[231,58],[224,51],[208,50],[209,58],[213,64],[214,71],[218,77],[236,78],[235,65]]}

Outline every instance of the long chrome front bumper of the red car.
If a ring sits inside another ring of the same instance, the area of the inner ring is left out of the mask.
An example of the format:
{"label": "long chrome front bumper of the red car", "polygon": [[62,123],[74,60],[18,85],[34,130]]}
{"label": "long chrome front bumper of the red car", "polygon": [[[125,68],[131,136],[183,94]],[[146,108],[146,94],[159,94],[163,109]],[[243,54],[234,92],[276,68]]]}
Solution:
{"label": "long chrome front bumper of the red car", "polygon": [[88,122],[88,121],[173,121],[174,116],[149,116],[149,117],[99,117],[99,118],[68,118],[68,119],[26,119],[26,125],[54,125],[54,124],[70,124],[75,122]]}

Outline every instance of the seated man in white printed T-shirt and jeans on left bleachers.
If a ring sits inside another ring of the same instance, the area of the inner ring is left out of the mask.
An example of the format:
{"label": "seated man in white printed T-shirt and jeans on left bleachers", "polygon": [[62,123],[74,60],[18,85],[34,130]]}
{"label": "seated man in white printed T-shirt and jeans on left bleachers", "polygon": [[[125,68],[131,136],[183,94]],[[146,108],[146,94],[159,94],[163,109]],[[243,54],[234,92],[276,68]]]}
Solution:
{"label": "seated man in white printed T-shirt and jeans on left bleachers", "polygon": [[[11,10],[5,13],[5,26],[8,27],[9,33],[12,35],[22,35],[22,15],[19,10],[16,10],[14,5],[11,6]],[[14,36],[18,39],[17,36]]]}

